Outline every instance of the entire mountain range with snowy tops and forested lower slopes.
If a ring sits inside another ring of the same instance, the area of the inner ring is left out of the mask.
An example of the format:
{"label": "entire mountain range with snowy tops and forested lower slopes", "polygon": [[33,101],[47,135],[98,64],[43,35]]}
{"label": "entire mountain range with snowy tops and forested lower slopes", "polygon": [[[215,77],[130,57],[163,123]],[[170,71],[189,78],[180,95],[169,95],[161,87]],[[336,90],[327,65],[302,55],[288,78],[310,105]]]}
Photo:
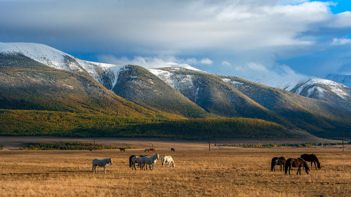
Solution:
{"label": "entire mountain range with snowy tops and forested lower slopes", "polygon": [[[338,137],[338,131],[351,128],[350,80],[341,76],[311,77],[280,89],[187,64],[114,65],[36,43],[0,43],[0,123],[32,118],[32,124],[46,130],[30,127],[26,133],[22,130],[28,124],[7,124],[0,134],[202,139],[211,130],[219,138],[301,137],[289,132],[298,129]],[[51,122],[45,118],[50,113],[55,117]],[[63,117],[77,124],[52,133],[52,124],[67,122]],[[96,121],[86,123],[89,117]]]}

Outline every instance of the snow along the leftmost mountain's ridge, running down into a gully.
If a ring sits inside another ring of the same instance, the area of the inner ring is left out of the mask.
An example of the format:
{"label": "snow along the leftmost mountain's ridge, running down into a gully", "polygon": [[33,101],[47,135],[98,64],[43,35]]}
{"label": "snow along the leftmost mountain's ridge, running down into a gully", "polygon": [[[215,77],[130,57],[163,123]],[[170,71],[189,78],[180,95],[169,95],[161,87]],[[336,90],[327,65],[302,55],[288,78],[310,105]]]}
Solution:
{"label": "snow along the leftmost mountain's ridge, running down into a gully", "polygon": [[109,90],[111,90],[116,83],[119,71],[125,67],[123,65],[81,60],[55,48],[38,43],[0,42],[0,53],[20,53],[35,61],[57,69],[73,72],[84,72],[85,70]]}

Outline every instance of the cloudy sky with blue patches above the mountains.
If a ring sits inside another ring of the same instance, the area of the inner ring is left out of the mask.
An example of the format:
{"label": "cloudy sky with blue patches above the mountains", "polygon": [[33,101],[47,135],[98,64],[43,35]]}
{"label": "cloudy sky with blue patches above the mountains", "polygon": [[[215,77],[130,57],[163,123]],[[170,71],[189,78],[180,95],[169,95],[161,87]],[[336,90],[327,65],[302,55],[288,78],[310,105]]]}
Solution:
{"label": "cloudy sky with blue patches above the mountains", "polygon": [[293,81],[351,74],[350,11],[349,0],[0,0],[0,42],[42,43],[95,62],[176,62]]}

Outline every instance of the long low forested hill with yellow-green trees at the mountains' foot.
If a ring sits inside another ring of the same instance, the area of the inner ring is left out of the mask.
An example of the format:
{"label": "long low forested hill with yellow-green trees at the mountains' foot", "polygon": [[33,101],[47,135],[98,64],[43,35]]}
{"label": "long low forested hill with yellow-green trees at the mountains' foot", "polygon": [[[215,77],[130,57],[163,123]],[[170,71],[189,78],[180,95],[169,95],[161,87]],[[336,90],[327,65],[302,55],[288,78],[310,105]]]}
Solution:
{"label": "long low forested hill with yellow-green trees at the mountains' foot", "polygon": [[211,138],[302,137],[277,123],[251,118],[164,120],[57,111],[0,110],[0,135],[205,140],[207,132],[210,132]]}

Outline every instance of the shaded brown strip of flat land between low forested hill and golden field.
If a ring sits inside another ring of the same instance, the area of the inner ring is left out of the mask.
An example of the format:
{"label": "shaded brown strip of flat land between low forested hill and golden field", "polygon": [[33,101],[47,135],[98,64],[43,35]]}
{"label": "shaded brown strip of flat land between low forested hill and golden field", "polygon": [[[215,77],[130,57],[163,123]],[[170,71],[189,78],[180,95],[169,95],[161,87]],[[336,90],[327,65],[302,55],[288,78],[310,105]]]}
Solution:
{"label": "shaded brown strip of flat land between low forested hill and golden field", "polygon": [[[305,131],[291,130],[298,135],[304,135],[305,138],[235,138],[229,140],[211,140],[211,145],[216,144],[264,144],[264,143],[324,143],[324,142],[342,142],[340,140],[329,140],[316,137]],[[71,137],[55,137],[55,136],[0,136],[0,144],[4,145],[4,149],[19,149],[26,142],[94,142],[94,138],[71,138]],[[114,145],[114,146],[133,146],[150,148],[152,144],[155,147],[173,147],[177,149],[208,149],[208,141],[189,141],[189,140],[171,140],[167,138],[122,138],[122,137],[96,137],[95,143]],[[218,148],[218,147],[213,147]]]}

